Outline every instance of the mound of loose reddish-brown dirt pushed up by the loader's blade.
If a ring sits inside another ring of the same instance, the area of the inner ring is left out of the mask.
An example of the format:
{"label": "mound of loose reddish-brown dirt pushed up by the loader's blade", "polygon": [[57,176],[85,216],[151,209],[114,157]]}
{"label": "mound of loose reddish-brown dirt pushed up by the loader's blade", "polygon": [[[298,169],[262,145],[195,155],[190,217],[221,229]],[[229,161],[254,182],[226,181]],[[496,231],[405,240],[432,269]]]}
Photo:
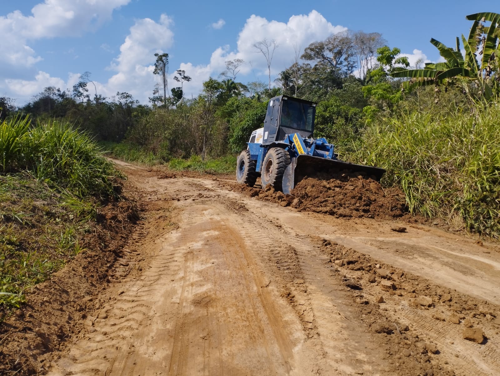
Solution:
{"label": "mound of loose reddish-brown dirt pushed up by the loader's blade", "polygon": [[340,171],[334,175],[316,174],[298,182],[291,194],[234,184],[232,188],[281,206],[314,211],[338,217],[397,218],[407,212],[404,194],[397,188],[382,188],[363,173]]}

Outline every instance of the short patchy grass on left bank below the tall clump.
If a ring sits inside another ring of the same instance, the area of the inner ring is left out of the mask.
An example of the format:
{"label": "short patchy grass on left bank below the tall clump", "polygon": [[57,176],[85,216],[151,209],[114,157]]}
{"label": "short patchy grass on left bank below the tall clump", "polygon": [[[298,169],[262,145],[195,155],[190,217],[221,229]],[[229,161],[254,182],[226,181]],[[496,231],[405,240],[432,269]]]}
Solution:
{"label": "short patchy grass on left bank below the tall clump", "polygon": [[0,306],[19,307],[26,289],[82,250],[86,224],[65,199],[28,174],[0,175]]}

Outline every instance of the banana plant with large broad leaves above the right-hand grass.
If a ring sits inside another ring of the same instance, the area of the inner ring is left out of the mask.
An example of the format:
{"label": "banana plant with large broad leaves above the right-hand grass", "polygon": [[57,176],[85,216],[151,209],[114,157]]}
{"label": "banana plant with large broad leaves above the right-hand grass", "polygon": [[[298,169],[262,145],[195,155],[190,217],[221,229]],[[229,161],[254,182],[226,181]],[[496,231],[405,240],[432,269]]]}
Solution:
{"label": "banana plant with large broad leaves above the right-hand grass", "polygon": [[[407,69],[391,73],[393,77],[410,78],[402,82],[403,89],[424,85],[458,83],[469,92],[477,87],[485,99],[500,93],[500,14],[481,12],[469,14],[467,19],[474,23],[468,38],[461,35],[465,56],[460,52],[460,39],[456,38],[456,48],[447,47],[431,38],[430,42],[439,50],[444,62],[426,63],[423,69]],[[490,21],[489,26],[483,22]],[[471,85],[472,84],[472,85]]]}

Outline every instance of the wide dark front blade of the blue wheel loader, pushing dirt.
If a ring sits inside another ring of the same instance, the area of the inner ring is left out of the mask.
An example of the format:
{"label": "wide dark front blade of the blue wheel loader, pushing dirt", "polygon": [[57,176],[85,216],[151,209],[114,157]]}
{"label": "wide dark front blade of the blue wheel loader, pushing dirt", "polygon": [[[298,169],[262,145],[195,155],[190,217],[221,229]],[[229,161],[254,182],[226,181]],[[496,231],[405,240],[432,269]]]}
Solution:
{"label": "wide dark front blade of the blue wheel loader, pushing dirt", "polygon": [[328,159],[319,156],[298,155],[292,158],[283,175],[283,193],[290,193],[293,187],[305,176],[320,174],[323,178],[333,177],[333,174],[342,170],[364,172],[367,176],[379,181],[385,170],[380,167],[365,166],[344,162],[338,159]]}

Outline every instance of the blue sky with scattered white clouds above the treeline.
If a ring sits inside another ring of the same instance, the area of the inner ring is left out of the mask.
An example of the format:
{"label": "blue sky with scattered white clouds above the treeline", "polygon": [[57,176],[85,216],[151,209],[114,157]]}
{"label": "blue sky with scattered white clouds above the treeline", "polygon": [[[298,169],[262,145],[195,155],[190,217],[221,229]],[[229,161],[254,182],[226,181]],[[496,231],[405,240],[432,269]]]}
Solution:
{"label": "blue sky with scattered white clouds above the treeline", "polygon": [[[2,0],[0,13],[0,96],[17,104],[45,86],[71,88],[91,72],[97,91],[112,97],[127,91],[146,103],[155,84],[154,52],[168,52],[169,71],[186,70],[196,95],[203,80],[217,77],[224,61],[243,58],[237,80],[266,81],[263,57],[251,45],[276,39],[272,72],[290,65],[293,45],[303,50],[345,28],[380,32],[410,61],[436,61],[434,37],[454,45],[468,34],[465,15],[500,12],[472,1],[159,1]],[[218,23],[217,23],[218,22]],[[174,81],[169,79],[169,87]]]}

